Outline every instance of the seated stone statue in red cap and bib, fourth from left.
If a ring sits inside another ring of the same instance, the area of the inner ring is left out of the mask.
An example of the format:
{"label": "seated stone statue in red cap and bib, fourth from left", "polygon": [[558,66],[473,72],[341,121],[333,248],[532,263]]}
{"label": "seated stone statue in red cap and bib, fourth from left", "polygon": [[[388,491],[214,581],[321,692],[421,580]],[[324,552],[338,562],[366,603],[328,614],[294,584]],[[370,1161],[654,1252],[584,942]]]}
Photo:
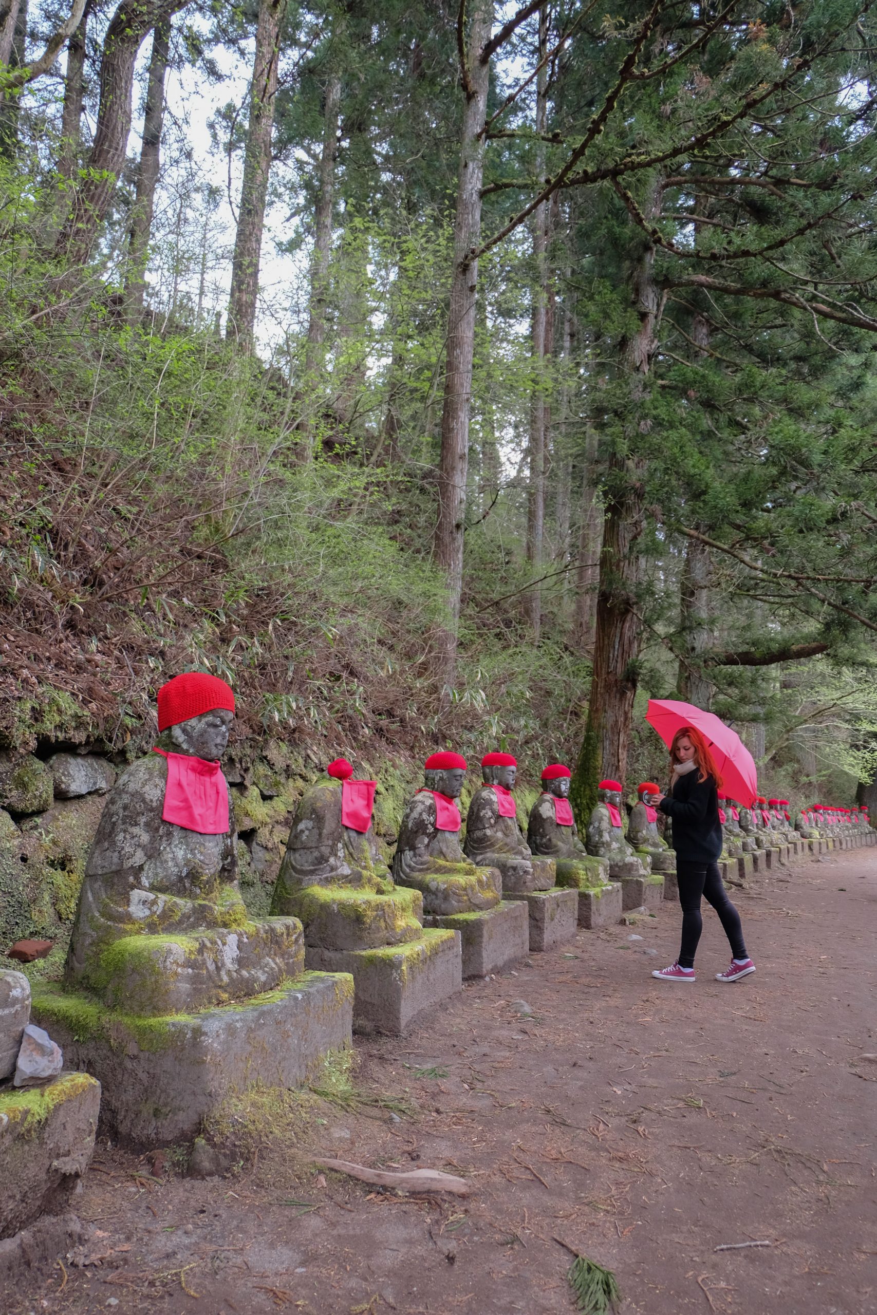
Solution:
{"label": "seated stone statue in red cap and bib, fourth from left", "polygon": [[510,753],[485,753],[481,759],[484,785],[476,790],[465,821],[467,856],[485,868],[502,873],[504,894],[551,890],[554,863],[534,859],[518,826],[511,790],[518,764]]}

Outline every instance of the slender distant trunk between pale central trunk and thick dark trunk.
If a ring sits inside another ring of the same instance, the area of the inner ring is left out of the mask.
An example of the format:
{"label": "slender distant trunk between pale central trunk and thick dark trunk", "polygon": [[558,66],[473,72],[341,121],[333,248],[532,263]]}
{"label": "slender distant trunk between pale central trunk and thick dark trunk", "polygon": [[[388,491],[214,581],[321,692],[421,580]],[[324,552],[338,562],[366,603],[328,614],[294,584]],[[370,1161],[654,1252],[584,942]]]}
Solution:
{"label": "slender distant trunk between pale central trunk and thick dark trunk", "polygon": [[[542,63],[548,46],[547,8],[539,11],[538,62]],[[536,75],[536,116],[535,132],[544,135],[548,114],[548,67]],[[546,143],[536,141],[538,179],[546,174]],[[548,214],[550,205],[543,201],[533,214],[533,256],[535,264],[535,285],[533,289],[531,347],[533,392],[530,397],[530,481],[527,488],[527,562],[535,579],[542,575],[542,547],[546,523],[546,380],[544,363],[548,355]],[[527,590],[527,614],[535,640],[542,630],[542,586],[531,585]]]}

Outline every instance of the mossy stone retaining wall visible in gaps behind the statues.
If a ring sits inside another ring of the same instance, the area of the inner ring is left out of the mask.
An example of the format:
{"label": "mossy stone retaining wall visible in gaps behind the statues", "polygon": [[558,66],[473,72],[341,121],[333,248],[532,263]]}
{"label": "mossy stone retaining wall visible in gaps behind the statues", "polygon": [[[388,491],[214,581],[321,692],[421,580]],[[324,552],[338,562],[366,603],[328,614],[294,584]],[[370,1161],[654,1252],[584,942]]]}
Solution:
{"label": "mossy stone retaining wall visible in gaps behind the statues", "polygon": [[[226,759],[241,890],[256,917],[268,913],[296,805],[337,752],[320,750],[266,739]],[[356,761],[358,772],[377,780],[375,831],[389,859],[405,805],[423,782],[422,765],[360,756]],[[60,969],[107,790],[125,767],[124,755],[110,759],[88,746],[71,751],[68,743],[41,744],[39,756],[0,752],[0,967],[12,967],[5,951],[13,942],[33,936],[55,942],[50,960],[34,970]],[[477,768],[468,773],[460,801],[464,819],[480,776]],[[536,793],[523,782],[515,792],[525,831]]]}

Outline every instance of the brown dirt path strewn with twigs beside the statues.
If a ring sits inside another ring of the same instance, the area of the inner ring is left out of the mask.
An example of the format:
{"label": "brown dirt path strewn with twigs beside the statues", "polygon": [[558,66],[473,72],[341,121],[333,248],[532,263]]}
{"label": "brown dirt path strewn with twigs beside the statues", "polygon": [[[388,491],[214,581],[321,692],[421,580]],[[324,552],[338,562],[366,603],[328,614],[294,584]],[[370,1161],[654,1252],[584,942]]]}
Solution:
{"label": "brown dirt path strewn with twigs beside the statues", "polygon": [[[329,1112],[295,1153],[206,1181],[135,1181],[143,1161],[99,1143],[75,1208],[105,1258],[0,1310],[565,1312],[561,1239],[615,1272],[625,1312],[876,1312],[877,849],[734,898],[759,967],[734,986],[711,911],[696,985],[652,980],[677,948],[665,903],[362,1041],[358,1084],[412,1118]],[[385,1194],[320,1177],[318,1152],[476,1190]],[[746,1241],[770,1245],[717,1249]]]}

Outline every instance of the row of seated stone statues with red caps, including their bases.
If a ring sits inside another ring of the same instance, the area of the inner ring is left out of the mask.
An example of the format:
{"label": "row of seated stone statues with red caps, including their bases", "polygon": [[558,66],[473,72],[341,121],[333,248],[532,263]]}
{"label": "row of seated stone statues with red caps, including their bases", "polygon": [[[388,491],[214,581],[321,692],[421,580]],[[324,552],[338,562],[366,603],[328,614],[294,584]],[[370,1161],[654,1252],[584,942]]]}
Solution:
{"label": "row of seated stone statues with red caps, including their bases", "polygon": [[[107,798],[64,982],[41,984],[33,1002],[67,1061],[104,1084],[108,1126],[133,1141],[187,1136],[254,1081],[305,1081],[350,1044],[354,1019],[401,1032],[464,976],[655,907],[673,871],[656,785],[639,786],[625,830],[622,785],[601,781],[582,843],[569,769],[550,764],[525,838],[517,764],[500,752],[481,761],[463,843],[465,760],[429,757],[388,864],[372,826],[376,784],[337,759],[298,802],[271,915],[251,918],[220,765],[234,694],[192,672],[158,702],[155,750]],[[780,843],[790,822],[770,803],[724,801],[728,852]],[[840,826],[819,811],[794,826],[819,819]]]}

